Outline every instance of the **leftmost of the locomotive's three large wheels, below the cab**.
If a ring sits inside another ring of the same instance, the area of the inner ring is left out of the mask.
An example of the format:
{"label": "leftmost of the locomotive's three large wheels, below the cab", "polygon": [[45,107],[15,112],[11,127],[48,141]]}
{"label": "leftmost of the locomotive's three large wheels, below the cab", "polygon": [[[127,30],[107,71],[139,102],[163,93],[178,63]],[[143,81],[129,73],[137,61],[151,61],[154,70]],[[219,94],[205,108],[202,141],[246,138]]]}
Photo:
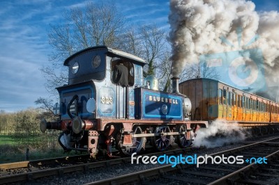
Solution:
{"label": "leftmost of the locomotive's three large wheels, below the cab", "polygon": [[[133,133],[134,134],[142,134],[142,128],[136,126],[133,127]],[[144,137],[142,138],[132,138],[132,143],[133,146],[130,147],[123,147],[123,135],[121,133],[118,134],[117,136],[117,147],[119,152],[123,155],[123,156],[130,156],[133,153],[138,153],[140,152],[140,150],[142,150],[142,146],[144,144]]]}

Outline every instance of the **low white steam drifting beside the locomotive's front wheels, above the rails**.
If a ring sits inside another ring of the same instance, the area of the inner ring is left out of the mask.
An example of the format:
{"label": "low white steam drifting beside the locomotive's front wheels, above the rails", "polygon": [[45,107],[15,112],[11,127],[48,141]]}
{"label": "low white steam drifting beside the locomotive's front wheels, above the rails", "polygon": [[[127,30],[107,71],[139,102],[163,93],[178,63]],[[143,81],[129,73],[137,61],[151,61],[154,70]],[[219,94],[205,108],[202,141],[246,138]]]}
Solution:
{"label": "low white steam drifting beside the locomotive's front wheels, above the rails", "polygon": [[216,120],[209,124],[208,128],[199,129],[196,134],[194,147],[211,148],[245,140],[248,132],[237,124]]}

